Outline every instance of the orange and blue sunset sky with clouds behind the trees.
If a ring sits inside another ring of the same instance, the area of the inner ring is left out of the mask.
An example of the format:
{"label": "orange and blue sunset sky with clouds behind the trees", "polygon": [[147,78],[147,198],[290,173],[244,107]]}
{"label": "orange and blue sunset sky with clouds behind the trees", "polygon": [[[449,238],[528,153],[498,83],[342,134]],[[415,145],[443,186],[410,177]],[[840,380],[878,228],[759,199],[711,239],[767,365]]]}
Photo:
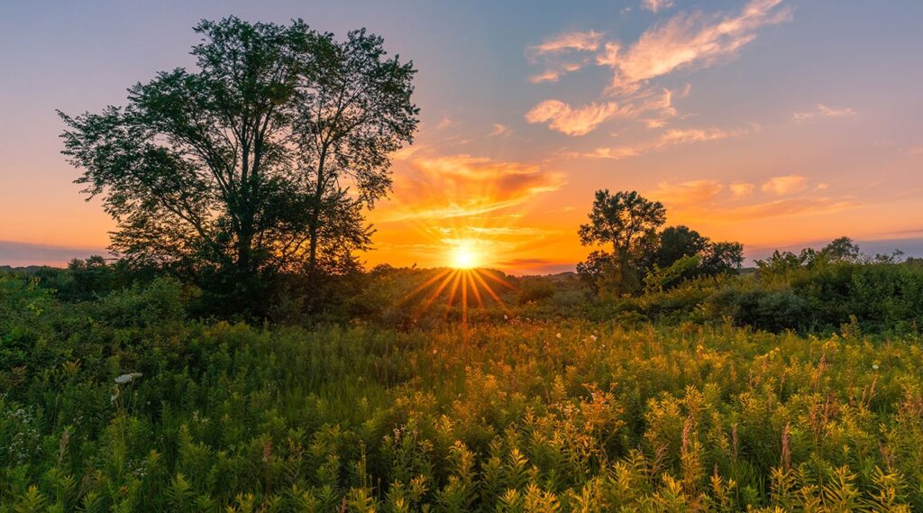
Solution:
{"label": "orange and blue sunset sky with clouds behind the trees", "polygon": [[[923,2],[0,1],[0,265],[102,253],[55,109],[98,112],[193,66],[202,18],[366,27],[419,70],[414,145],[369,219],[368,266],[465,246],[514,273],[573,268],[593,192],[745,245],[923,256]],[[749,263],[749,262],[748,262]]]}

